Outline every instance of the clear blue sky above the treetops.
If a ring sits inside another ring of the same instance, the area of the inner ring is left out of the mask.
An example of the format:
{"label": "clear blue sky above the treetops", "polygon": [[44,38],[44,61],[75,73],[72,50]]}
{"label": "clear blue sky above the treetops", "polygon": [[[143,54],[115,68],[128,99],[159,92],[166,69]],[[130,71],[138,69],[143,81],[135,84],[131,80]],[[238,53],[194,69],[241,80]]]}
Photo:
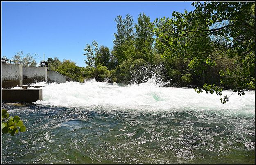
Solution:
{"label": "clear blue sky above the treetops", "polygon": [[84,47],[96,40],[113,49],[118,15],[130,14],[134,23],[145,13],[151,22],[172,17],[173,11],[192,11],[187,2],[1,2],[1,56],[11,59],[18,51],[37,54],[40,63],[45,54],[61,61],[70,59],[85,67]]}

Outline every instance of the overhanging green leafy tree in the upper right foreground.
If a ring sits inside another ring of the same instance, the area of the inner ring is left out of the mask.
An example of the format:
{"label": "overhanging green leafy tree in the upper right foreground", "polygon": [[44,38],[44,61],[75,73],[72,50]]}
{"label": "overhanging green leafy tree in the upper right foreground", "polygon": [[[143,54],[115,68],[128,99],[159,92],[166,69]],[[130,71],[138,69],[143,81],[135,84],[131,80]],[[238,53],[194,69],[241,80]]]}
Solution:
{"label": "overhanging green leafy tree in the upper right foreground", "polygon": [[[193,2],[192,5],[194,11],[174,11],[170,19],[155,20],[156,45],[163,57],[187,57],[195,74],[204,74],[218,60],[232,59],[236,67],[219,72],[220,85],[240,95],[247,89],[255,89],[255,3]],[[201,89],[221,95],[223,87],[205,83],[195,90],[200,93]],[[227,102],[227,96],[221,101]]]}

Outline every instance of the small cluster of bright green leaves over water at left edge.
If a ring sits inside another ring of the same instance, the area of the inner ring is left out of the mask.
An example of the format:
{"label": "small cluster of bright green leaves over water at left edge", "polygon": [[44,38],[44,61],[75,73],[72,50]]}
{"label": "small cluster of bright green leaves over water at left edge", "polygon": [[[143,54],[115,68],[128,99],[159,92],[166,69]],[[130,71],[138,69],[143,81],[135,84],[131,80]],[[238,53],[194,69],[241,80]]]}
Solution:
{"label": "small cluster of bright green leaves over water at left edge", "polygon": [[2,123],[1,123],[2,133],[11,134],[14,136],[15,133],[25,132],[26,126],[20,120],[19,116],[10,116],[6,109],[2,109]]}

